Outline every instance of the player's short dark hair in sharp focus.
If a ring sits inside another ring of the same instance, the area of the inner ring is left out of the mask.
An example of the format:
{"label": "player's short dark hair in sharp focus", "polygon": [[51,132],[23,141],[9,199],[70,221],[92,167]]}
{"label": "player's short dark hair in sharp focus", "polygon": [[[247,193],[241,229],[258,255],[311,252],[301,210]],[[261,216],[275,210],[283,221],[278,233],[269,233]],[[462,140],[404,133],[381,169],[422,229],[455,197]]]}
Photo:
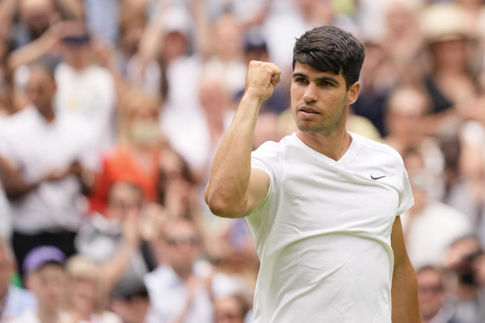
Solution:
{"label": "player's short dark hair in sharp focus", "polygon": [[322,72],[342,71],[349,88],[359,80],[364,58],[364,45],[351,33],[334,26],[316,27],[295,42],[293,70],[300,62]]}

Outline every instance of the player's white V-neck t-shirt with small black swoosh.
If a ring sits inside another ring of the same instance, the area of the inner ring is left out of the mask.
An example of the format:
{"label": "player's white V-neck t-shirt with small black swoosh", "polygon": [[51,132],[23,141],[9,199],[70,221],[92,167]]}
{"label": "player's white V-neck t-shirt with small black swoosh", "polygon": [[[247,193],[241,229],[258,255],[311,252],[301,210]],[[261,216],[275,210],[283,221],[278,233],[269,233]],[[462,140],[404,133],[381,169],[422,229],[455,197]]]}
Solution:
{"label": "player's white V-neck t-shirt with small black swoosh", "polygon": [[261,260],[256,323],[391,322],[391,231],[414,200],[401,156],[349,134],[338,161],[296,133],[252,154],[270,177],[247,217]]}

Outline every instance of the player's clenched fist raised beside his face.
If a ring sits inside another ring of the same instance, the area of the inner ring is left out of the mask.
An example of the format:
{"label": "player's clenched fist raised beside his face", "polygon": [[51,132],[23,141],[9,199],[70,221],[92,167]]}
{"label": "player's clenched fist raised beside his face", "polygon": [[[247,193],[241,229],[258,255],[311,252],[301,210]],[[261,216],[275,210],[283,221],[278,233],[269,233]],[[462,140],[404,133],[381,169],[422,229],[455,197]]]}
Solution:
{"label": "player's clenched fist raised beside his face", "polygon": [[273,63],[251,61],[246,75],[245,95],[265,100],[281,80],[281,70]]}

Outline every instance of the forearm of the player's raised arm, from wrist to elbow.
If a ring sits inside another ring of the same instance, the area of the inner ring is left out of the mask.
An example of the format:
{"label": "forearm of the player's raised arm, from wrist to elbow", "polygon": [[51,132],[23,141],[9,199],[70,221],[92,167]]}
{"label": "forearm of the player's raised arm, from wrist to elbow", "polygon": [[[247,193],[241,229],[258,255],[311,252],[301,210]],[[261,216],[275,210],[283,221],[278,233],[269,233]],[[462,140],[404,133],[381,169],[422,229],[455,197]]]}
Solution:
{"label": "forearm of the player's raised arm, from wrist to elbow", "polygon": [[[212,161],[206,200],[209,206],[215,200],[244,206],[245,194],[251,176],[251,150],[254,129],[261,100],[245,95],[239,104],[234,120],[227,130]],[[217,211],[217,205],[216,205]]]}

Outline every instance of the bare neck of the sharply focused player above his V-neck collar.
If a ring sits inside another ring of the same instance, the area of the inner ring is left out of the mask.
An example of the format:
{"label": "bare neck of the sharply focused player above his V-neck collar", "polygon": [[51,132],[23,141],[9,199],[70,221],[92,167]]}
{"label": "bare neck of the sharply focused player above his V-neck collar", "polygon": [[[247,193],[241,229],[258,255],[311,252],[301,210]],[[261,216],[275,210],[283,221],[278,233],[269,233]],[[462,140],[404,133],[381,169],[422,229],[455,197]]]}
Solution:
{"label": "bare neck of the sharply focused player above his V-neck collar", "polygon": [[342,158],[352,143],[352,136],[347,133],[345,126],[328,133],[297,131],[297,136],[307,146],[333,160]]}

